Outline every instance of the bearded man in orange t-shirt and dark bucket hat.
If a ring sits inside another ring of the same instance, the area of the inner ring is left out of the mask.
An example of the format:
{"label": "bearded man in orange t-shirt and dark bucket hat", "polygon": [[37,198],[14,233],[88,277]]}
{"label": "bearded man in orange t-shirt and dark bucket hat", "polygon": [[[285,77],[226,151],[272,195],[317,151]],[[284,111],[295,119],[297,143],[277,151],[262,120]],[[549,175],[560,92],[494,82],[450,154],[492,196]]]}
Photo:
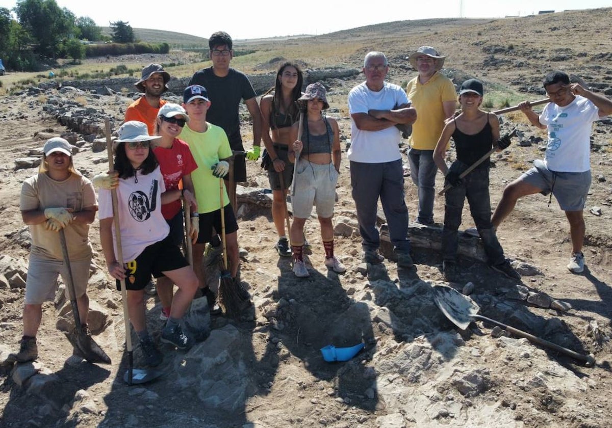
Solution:
{"label": "bearded man in orange t-shirt and dark bucket hat", "polygon": [[149,64],[143,68],[140,80],[134,85],[144,95],[125,110],[125,122],[138,120],[147,124],[149,134],[154,133],[155,119],[159,109],[166,103],[162,94],[168,89],[170,74],[159,64]]}

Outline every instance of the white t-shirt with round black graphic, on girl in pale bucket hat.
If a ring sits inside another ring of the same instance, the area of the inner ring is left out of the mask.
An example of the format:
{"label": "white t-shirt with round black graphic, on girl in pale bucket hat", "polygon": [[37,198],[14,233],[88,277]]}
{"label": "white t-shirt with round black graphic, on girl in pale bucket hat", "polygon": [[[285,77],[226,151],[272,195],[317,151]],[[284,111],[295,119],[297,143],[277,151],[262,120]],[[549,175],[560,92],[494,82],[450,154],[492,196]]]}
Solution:
{"label": "white t-shirt with round black graphic, on girl in pale bucket hat", "polygon": [[[151,174],[119,179],[117,201],[124,263],[134,260],[147,246],[163,240],[170,233],[162,215],[161,195],[165,191],[159,166]],[[100,220],[112,217],[111,191],[100,189],[98,199]],[[114,224],[113,247],[117,254]]]}

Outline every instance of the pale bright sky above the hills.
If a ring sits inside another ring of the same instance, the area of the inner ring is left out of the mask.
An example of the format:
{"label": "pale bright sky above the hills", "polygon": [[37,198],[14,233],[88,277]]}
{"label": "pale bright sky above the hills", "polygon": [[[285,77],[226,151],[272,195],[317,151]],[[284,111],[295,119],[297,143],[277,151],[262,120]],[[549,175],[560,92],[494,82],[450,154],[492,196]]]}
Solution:
{"label": "pale bright sky above the hills", "polygon": [[[372,0],[233,0],[219,2],[207,13],[211,1],[156,2],[133,0],[56,0],[76,17],[92,18],[102,27],[110,21],[124,21],[132,28],[176,31],[199,37],[226,31],[234,40],[259,39],[297,34],[326,34],[390,21],[426,18],[501,18],[525,16],[539,10],[594,9],[612,6],[611,0],[436,0],[408,2],[385,0],[381,12],[367,10]],[[0,7],[12,9],[16,0],[0,0]],[[155,6],[160,4],[161,6]],[[304,5],[304,12],[299,6]],[[364,6],[360,6],[364,5]],[[579,5],[579,6],[578,6]],[[225,6],[225,7],[224,7]],[[193,7],[193,10],[189,10]]]}

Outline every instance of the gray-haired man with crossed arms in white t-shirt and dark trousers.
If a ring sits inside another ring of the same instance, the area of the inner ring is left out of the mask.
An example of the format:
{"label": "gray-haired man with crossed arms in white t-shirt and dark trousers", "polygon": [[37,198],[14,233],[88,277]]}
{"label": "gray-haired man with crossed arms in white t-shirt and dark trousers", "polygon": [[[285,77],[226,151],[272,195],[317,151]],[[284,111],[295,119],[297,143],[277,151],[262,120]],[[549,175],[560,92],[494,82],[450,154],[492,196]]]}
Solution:
{"label": "gray-haired man with crossed arms in white t-shirt and dark trousers", "polygon": [[395,125],[412,124],[417,115],[409,107],[406,92],[385,81],[387,72],[387,57],[382,52],[368,53],[364,59],[365,82],[351,89],[348,95],[351,186],[364,261],[381,263],[384,260],[378,253],[380,237],[376,229],[376,207],[380,199],[398,266],[411,268],[408,208],[399,149],[401,135]]}

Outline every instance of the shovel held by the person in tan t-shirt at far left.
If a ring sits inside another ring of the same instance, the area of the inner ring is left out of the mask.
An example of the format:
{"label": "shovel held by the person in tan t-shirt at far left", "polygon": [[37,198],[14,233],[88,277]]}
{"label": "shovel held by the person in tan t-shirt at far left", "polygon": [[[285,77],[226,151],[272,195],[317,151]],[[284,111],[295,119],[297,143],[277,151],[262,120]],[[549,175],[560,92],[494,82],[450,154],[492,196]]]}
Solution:
{"label": "shovel held by the person in tan t-shirt at far left", "polygon": [[106,352],[100,348],[100,345],[98,345],[91,336],[88,336],[88,334],[81,329],[81,317],[78,313],[78,306],[76,305],[75,284],[72,279],[72,269],[70,268],[70,257],[68,256],[68,246],[66,245],[64,229],[59,229],[59,242],[62,245],[64,264],[68,270],[68,284],[66,284],[66,286],[68,287],[68,293],[70,295],[72,314],[75,317],[75,330],[72,333],[66,333],[66,337],[72,344],[76,353],[89,361],[89,363],[110,364],[111,359],[106,355]]}

